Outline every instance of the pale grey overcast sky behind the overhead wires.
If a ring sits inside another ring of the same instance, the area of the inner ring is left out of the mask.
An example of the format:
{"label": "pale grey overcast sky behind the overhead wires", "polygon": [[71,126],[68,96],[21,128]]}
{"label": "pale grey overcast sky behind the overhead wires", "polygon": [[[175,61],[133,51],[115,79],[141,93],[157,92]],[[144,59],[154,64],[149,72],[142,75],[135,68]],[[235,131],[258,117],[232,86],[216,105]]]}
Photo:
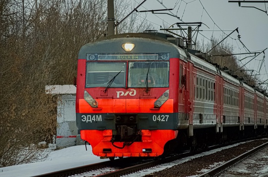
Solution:
{"label": "pale grey overcast sky behind the overhead wires", "polygon": [[[142,1],[133,0],[133,3],[137,6]],[[200,30],[203,31],[198,35],[199,41],[202,38],[207,41],[211,36],[220,38],[223,35],[223,37],[226,37],[238,28],[241,36],[240,40],[250,52],[263,51],[268,47],[268,15],[264,12],[268,9],[268,3],[241,3],[241,6],[254,6],[256,8],[239,7],[237,2],[228,2],[228,0],[146,0],[138,8],[138,11],[172,8],[173,10],[162,12],[176,15],[180,20],[171,15],[152,14],[151,12],[139,12],[138,15],[141,18],[147,15],[146,19],[153,23],[155,30],[158,31],[160,31],[160,26],[163,27],[163,24],[165,24],[165,27],[169,27],[177,22],[202,22]],[[177,26],[174,25],[174,28],[177,28]],[[248,52],[237,36],[238,33],[234,32],[226,40],[233,45],[235,53]],[[268,69],[266,69],[266,66],[268,66],[268,49],[265,50],[265,53],[267,54],[265,64],[260,71],[262,80],[268,79]],[[246,56],[249,55],[237,55],[238,59]],[[253,57],[246,58],[242,61],[241,66],[253,59],[246,67],[259,71],[263,57],[264,54],[262,53],[255,59]]]}

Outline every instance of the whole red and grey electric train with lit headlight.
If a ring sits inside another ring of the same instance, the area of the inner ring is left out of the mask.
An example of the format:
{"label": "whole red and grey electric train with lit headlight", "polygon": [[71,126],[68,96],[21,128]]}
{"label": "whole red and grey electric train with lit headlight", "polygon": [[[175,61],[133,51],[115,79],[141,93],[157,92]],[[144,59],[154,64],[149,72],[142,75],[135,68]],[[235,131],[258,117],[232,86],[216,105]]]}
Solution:
{"label": "whole red and grey electric train with lit headlight", "polygon": [[76,124],[95,155],[155,157],[174,144],[265,132],[268,97],[180,44],[129,33],[80,49]]}

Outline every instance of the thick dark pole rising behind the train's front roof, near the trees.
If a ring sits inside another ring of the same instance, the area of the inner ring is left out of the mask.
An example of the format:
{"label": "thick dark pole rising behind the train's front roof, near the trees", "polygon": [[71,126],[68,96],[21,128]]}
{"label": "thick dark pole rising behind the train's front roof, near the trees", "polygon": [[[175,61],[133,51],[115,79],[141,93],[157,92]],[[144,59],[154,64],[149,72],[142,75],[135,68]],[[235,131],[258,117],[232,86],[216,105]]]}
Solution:
{"label": "thick dark pole rising behind the train's front roof, near the trees", "polygon": [[107,0],[107,22],[108,22],[108,36],[115,34],[115,10],[114,10],[114,0]]}

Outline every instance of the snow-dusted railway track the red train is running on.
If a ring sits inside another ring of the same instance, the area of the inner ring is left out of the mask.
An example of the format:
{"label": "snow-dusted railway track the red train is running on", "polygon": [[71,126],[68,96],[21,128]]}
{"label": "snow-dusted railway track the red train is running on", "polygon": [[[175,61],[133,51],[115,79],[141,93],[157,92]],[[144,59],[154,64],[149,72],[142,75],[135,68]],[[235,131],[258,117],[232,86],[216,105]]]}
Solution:
{"label": "snow-dusted railway track the red train is running on", "polygon": [[[249,139],[248,139],[249,140]],[[78,168],[72,168],[67,170],[62,170],[58,172],[48,173],[44,175],[39,175],[36,177],[120,177],[128,174],[132,174],[144,169],[152,168],[161,164],[170,163],[173,161],[180,160],[185,157],[194,156],[205,151],[213,150],[219,147],[224,147],[237,142],[225,143],[224,145],[215,145],[202,149],[195,152],[185,152],[182,154],[176,154],[164,159],[155,160],[154,158],[123,158],[116,159],[114,161],[106,161],[102,163],[96,163],[92,165],[82,166]],[[266,143],[267,144],[267,143]],[[212,171],[209,172],[212,174]],[[206,177],[204,174],[203,177]]]}

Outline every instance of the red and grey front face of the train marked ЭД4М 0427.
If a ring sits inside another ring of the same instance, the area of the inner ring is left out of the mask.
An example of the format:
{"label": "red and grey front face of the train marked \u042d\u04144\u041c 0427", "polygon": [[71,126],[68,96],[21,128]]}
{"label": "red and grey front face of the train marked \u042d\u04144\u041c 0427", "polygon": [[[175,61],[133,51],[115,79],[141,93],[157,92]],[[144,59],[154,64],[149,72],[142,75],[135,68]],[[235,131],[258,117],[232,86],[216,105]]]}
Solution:
{"label": "red and grey front face of the train marked \u042d\u04144\u041c 0427", "polygon": [[135,39],[126,52],[122,43],[130,41],[104,40],[79,52],[76,122],[97,156],[159,156],[178,134],[178,50]]}

